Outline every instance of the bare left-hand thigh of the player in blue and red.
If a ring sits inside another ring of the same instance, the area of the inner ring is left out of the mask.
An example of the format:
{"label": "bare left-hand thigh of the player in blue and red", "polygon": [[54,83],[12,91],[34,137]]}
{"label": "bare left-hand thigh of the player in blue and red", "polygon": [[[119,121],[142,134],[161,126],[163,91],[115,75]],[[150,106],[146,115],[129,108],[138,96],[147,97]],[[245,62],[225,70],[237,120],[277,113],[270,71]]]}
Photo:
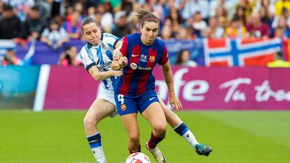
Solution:
{"label": "bare left-hand thigh of the player in blue and red", "polygon": [[130,139],[139,139],[137,113],[122,115],[121,120]]}

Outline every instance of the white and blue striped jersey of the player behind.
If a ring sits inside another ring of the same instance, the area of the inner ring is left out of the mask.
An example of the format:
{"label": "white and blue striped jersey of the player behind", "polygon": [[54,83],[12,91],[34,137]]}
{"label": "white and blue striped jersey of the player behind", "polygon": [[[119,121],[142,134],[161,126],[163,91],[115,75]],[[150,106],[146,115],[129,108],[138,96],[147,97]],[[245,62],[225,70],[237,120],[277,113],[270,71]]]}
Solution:
{"label": "white and blue striped jersey of the player behind", "polygon": [[[111,64],[113,60],[113,50],[116,43],[121,39],[113,34],[102,34],[101,40],[98,45],[92,45],[86,43],[81,49],[81,60],[87,71],[92,66],[97,66],[100,72],[111,70]],[[102,80],[102,87],[106,90],[113,90],[113,82],[116,77],[112,76]]]}

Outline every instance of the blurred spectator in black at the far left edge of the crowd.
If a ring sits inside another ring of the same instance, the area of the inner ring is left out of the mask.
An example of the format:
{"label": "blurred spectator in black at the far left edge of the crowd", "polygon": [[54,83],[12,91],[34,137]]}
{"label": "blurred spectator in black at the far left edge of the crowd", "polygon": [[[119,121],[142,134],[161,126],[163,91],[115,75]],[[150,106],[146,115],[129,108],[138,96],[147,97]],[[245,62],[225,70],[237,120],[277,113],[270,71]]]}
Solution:
{"label": "blurred spectator in black at the far left edge of the crowd", "polygon": [[4,5],[0,20],[0,39],[25,37],[25,25],[14,15],[12,6]]}

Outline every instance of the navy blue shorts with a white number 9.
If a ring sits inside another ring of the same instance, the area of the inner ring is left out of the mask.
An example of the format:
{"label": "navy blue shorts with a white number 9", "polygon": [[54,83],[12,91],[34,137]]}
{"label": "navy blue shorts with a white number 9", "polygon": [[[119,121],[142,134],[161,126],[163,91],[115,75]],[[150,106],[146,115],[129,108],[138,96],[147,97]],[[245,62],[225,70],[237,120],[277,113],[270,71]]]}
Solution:
{"label": "navy blue shorts with a white number 9", "polygon": [[120,116],[130,113],[142,113],[153,102],[159,102],[155,91],[147,91],[136,97],[115,94],[117,111]]}

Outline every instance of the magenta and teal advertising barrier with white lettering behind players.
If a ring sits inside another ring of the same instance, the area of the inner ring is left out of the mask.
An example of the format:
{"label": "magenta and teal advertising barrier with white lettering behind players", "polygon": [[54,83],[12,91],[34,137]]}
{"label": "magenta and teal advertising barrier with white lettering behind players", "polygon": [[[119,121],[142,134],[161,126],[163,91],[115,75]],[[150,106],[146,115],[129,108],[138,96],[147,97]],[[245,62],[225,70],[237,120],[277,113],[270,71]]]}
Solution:
{"label": "magenta and teal advertising barrier with white lettering behind players", "polygon": [[[173,66],[172,70],[175,92],[185,110],[290,110],[290,69]],[[160,66],[154,74],[156,92],[167,103]],[[49,65],[40,70],[38,66],[0,68],[0,83],[0,108],[33,105],[35,111],[88,109],[100,87],[83,67]]]}

